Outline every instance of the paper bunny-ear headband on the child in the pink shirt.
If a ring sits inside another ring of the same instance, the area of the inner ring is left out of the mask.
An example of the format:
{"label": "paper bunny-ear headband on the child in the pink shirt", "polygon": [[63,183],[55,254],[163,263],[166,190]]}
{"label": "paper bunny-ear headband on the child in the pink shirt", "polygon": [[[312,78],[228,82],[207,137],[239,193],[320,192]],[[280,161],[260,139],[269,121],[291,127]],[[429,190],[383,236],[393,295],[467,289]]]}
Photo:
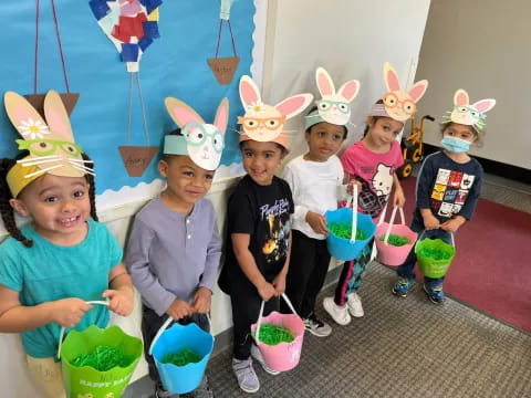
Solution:
{"label": "paper bunny-ear headband on the child in the pink shirt", "polygon": [[406,122],[417,111],[417,102],[426,93],[428,81],[419,81],[404,91],[395,69],[386,62],[384,64],[384,82],[387,93],[382,98],[383,103],[373,105],[371,116],[384,116],[402,123]]}

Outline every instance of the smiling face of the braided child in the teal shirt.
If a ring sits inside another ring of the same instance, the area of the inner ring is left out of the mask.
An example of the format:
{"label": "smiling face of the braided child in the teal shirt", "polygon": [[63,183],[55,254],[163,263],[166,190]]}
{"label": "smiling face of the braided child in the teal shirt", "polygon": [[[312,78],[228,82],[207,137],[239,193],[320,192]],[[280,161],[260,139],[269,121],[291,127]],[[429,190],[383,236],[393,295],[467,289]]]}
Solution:
{"label": "smiling face of the braided child in the teal shirt", "polygon": [[10,203],[19,214],[33,218],[33,227],[41,237],[70,245],[86,235],[85,221],[91,214],[88,188],[84,177],[46,174]]}

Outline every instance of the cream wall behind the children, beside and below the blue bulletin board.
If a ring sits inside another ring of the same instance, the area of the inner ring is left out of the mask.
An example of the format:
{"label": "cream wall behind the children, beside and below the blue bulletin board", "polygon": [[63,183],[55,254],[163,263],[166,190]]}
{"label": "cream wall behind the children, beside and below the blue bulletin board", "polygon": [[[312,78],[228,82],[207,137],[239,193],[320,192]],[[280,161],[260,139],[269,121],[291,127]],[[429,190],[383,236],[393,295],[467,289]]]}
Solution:
{"label": "cream wall behind the children, beside and below the blue bulletin board", "polygon": [[[261,2],[261,1],[260,1]],[[263,65],[261,86],[266,102],[277,103],[298,92],[317,94],[314,71],[325,66],[337,86],[350,78],[362,82],[358,97],[354,102],[350,142],[360,136],[371,104],[384,94],[382,65],[391,61],[402,81],[413,81],[420,41],[426,22],[429,0],[375,0],[316,1],[316,0],[270,0],[258,8],[267,15],[267,34],[256,32],[256,45],[264,45],[263,59],[254,52],[254,63]],[[258,27],[261,24],[257,24]],[[262,39],[261,39],[262,38]],[[266,42],[260,42],[266,40]],[[252,70],[252,69],[251,69]],[[257,71],[257,70],[254,70]],[[260,80],[258,80],[260,84]],[[288,128],[301,130],[302,118],[290,122]],[[290,156],[305,150],[302,135],[293,139]],[[215,180],[208,198],[214,202],[220,229],[225,224],[225,209],[230,188],[237,181],[233,177]],[[145,203],[146,198],[116,205],[100,212],[102,222],[123,244],[132,217]],[[4,231],[0,228],[0,239]],[[332,266],[335,266],[335,262]],[[134,315],[122,321],[124,328],[139,335],[138,300]],[[231,326],[228,296],[218,289],[212,298],[212,332],[219,334]],[[23,354],[15,335],[0,334],[0,385],[2,396],[35,397],[40,394],[27,376]],[[146,375],[147,368],[140,362],[133,379]]]}

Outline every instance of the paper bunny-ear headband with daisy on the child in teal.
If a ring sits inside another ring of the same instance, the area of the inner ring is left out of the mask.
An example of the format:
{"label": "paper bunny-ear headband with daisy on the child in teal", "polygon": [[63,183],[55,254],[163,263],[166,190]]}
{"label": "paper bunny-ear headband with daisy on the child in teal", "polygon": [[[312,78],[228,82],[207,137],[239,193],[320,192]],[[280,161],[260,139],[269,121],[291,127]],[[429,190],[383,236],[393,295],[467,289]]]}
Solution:
{"label": "paper bunny-ear headband with daisy on the child in teal", "polygon": [[60,177],[94,175],[92,160],[83,160],[83,150],[74,143],[69,114],[61,97],[53,90],[44,97],[44,118],[21,95],[7,92],[3,104],[9,119],[23,139],[17,139],[19,149],[30,155],[17,161],[8,172],[7,181],[13,198],[30,182],[44,174]]}

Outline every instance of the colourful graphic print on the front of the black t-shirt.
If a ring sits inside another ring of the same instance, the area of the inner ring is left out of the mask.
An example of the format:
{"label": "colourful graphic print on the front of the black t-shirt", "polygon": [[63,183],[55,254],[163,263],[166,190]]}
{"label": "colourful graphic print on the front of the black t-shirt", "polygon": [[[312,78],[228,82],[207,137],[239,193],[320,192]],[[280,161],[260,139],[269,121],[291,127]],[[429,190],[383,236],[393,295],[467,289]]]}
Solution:
{"label": "colourful graphic print on the front of the black t-shirt", "polygon": [[288,254],[290,244],[290,202],[278,199],[273,206],[260,208],[260,220],[266,226],[266,240],[262,253],[266,261],[277,262]]}

